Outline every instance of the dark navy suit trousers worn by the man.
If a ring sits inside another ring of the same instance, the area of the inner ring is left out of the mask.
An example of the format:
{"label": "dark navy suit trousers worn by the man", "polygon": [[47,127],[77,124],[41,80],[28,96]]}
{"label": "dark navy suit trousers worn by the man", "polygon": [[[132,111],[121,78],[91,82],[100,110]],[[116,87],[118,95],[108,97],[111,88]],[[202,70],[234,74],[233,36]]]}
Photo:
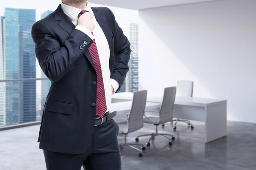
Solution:
{"label": "dark navy suit trousers worn by the man", "polygon": [[94,127],[88,149],[81,154],[44,150],[47,170],[121,170],[121,153],[117,140],[119,127],[111,119]]}

